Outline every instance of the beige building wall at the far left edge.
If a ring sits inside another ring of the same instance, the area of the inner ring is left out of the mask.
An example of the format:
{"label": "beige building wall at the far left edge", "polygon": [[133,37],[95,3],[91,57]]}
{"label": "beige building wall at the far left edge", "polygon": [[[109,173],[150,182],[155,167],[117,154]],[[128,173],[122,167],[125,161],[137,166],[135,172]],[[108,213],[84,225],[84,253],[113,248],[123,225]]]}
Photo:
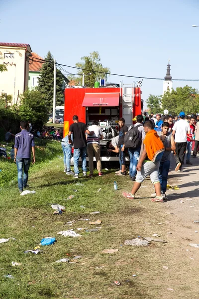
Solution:
{"label": "beige building wall at the far left edge", "polygon": [[[13,47],[0,45],[0,64],[5,64],[7,71],[0,72],[0,93],[12,95],[12,104],[16,104],[17,95],[28,88],[28,70],[30,46]],[[18,100],[19,101],[19,100]]]}

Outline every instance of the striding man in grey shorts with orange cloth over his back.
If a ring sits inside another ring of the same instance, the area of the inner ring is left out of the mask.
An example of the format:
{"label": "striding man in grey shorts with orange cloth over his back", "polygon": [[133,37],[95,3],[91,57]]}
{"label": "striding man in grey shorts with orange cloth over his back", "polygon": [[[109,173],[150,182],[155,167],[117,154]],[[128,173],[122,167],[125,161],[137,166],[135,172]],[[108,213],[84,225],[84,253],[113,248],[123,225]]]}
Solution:
{"label": "striding man in grey shorts with orange cloth over his back", "polygon": [[122,195],[128,199],[134,199],[136,192],[139,190],[142,182],[150,175],[151,181],[154,184],[156,197],[152,201],[163,202],[161,195],[161,185],[158,178],[160,159],[164,154],[164,145],[160,140],[157,132],[153,130],[153,123],[147,121],[144,123],[146,133],[145,139],[142,142],[140,158],[137,164],[137,175],[131,192],[124,191]]}

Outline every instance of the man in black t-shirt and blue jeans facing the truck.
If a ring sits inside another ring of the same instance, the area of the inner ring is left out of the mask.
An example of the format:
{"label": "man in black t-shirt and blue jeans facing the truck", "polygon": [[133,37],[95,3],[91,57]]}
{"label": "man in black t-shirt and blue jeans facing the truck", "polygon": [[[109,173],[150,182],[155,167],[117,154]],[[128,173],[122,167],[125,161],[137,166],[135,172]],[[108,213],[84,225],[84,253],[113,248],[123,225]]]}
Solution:
{"label": "man in black t-shirt and blue jeans facing the truck", "polygon": [[74,145],[74,178],[79,177],[79,169],[78,169],[78,162],[80,156],[82,157],[82,170],[83,170],[83,176],[87,176],[87,141],[86,141],[86,135],[85,132],[88,135],[93,135],[94,132],[90,132],[87,129],[86,124],[79,122],[78,116],[73,116],[73,124],[69,128],[69,144],[72,144],[71,140],[71,134],[73,133],[73,145]]}

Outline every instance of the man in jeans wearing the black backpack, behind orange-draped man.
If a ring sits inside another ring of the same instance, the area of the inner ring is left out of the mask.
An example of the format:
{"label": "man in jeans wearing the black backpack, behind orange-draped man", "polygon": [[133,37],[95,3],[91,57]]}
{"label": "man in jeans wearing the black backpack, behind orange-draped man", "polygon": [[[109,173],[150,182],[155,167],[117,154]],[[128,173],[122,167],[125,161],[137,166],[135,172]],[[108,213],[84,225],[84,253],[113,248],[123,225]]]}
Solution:
{"label": "man in jeans wearing the black backpack, behind orange-draped man", "polygon": [[[143,127],[143,115],[137,115],[136,116],[136,121],[137,123],[134,125],[134,127],[132,126],[130,130],[137,130],[138,131],[138,135],[139,135],[139,144],[136,145],[136,141],[134,141],[133,139],[131,140],[131,147],[128,148],[128,153],[129,153],[129,158],[130,158],[130,165],[129,165],[129,176],[130,179],[132,181],[135,181],[135,176],[137,174],[137,163],[138,163],[138,159],[140,156],[140,149],[141,149],[141,143],[142,140],[144,140],[145,138],[145,131],[144,131],[144,127]],[[130,130],[128,131],[128,133],[130,133]],[[130,134],[131,135],[131,134]],[[129,135],[129,137],[130,137]],[[124,139],[129,139],[129,137],[127,138],[127,135],[124,137]],[[134,138],[137,138],[137,136],[134,135]],[[126,144],[124,142],[124,146],[126,147]]]}

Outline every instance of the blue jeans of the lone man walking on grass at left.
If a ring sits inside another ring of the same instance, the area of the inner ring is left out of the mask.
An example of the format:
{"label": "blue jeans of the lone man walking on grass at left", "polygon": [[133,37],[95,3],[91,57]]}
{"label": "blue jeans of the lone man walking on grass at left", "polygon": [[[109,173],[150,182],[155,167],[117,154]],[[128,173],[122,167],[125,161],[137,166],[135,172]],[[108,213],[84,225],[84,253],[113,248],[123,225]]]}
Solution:
{"label": "blue jeans of the lone man walking on grass at left", "polygon": [[23,190],[23,187],[26,187],[28,181],[30,158],[25,159],[16,156],[16,167],[18,172],[18,188],[19,190]]}

